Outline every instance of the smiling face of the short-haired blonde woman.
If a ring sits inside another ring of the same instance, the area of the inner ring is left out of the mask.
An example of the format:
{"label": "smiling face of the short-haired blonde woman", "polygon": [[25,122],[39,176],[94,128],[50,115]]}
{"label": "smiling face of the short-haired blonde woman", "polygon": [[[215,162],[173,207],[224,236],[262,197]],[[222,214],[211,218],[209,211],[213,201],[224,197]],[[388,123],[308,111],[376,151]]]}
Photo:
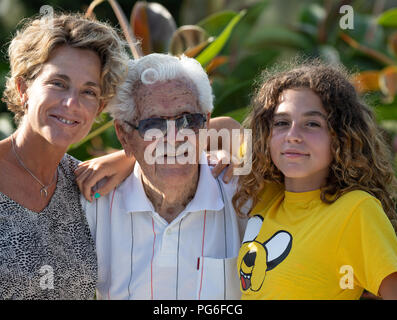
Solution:
{"label": "smiling face of the short-haired blonde woman", "polygon": [[49,143],[67,148],[85,137],[100,105],[101,62],[88,49],[57,47],[23,92],[22,126]]}

